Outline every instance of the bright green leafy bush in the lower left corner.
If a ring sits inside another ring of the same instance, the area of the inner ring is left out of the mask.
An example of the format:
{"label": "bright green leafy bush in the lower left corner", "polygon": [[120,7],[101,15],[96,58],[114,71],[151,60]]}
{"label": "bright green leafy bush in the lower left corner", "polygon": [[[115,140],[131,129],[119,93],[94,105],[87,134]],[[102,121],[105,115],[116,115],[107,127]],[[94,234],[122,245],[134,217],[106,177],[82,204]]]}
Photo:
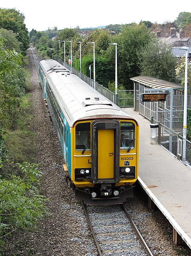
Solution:
{"label": "bright green leafy bush in the lower left corner", "polygon": [[17,229],[33,227],[47,214],[46,198],[39,194],[42,173],[36,164],[17,164],[20,176],[0,177],[0,244]]}

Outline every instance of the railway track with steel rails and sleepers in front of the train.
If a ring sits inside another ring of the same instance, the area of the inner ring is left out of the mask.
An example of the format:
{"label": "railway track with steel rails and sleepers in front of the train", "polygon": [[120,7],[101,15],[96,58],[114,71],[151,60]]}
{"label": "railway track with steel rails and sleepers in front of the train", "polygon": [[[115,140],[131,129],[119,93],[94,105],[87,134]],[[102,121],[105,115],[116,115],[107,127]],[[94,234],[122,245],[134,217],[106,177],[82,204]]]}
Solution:
{"label": "railway track with steel rails and sleepers in front of the train", "polygon": [[125,206],[82,205],[100,256],[153,255]]}

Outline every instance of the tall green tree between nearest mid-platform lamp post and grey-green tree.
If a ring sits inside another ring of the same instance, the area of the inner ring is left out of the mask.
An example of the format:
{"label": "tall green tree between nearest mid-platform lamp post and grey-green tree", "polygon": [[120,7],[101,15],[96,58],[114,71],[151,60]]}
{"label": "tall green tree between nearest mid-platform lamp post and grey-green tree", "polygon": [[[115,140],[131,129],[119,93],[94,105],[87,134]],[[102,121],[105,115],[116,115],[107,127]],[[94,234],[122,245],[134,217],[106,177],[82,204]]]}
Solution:
{"label": "tall green tree between nearest mid-platform lamp post and grey-green tree", "polygon": [[[117,62],[118,62],[118,81],[126,89],[131,89],[131,77],[139,76],[140,67],[139,54],[140,49],[146,47],[154,35],[148,30],[145,24],[141,23],[127,25],[123,28],[117,40]],[[114,52],[110,62],[114,63]]]}

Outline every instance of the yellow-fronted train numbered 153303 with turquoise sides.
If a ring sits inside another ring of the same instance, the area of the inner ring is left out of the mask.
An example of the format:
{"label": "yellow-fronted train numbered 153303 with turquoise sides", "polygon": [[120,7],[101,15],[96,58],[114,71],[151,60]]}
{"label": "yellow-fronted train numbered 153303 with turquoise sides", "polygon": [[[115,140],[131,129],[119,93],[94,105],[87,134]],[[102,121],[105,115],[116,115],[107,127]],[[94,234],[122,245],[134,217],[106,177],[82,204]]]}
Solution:
{"label": "yellow-fronted train numbered 153303 with turquoise sides", "polygon": [[54,59],[40,61],[38,73],[76,199],[111,205],[133,197],[138,122]]}

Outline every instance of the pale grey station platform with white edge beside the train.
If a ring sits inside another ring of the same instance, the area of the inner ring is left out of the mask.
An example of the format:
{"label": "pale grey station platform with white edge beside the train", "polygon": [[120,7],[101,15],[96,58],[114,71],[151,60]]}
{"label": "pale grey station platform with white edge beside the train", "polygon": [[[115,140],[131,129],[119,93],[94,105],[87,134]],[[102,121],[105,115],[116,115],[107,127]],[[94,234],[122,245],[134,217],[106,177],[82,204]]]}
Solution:
{"label": "pale grey station platform with white edge beside the train", "polygon": [[173,227],[173,240],[191,248],[191,169],[158,144],[151,144],[150,121],[123,108],[140,125],[139,178],[152,202]]}

